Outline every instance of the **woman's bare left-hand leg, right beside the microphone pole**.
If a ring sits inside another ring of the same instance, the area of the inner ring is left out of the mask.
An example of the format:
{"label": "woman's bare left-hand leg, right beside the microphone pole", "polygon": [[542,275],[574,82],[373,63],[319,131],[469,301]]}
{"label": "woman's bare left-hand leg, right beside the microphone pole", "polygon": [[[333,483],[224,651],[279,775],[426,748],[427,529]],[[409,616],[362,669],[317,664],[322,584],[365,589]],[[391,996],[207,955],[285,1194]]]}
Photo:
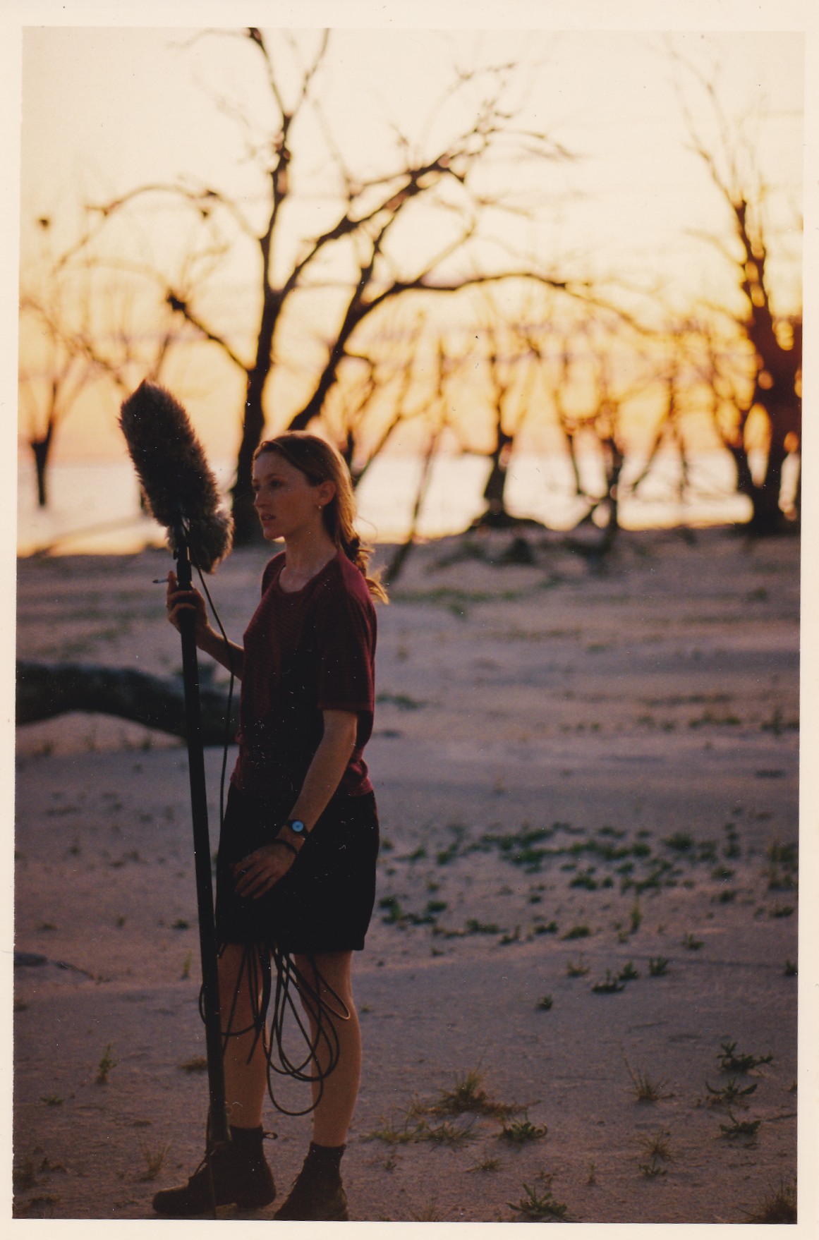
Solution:
{"label": "woman's bare left-hand leg, right beside the microphone pole", "polygon": [[[248,951],[251,954],[249,976],[247,965],[242,968],[244,947],[241,944],[228,944],[220,956],[218,988],[222,1030],[226,1029],[228,1019],[231,1028],[247,1029],[253,1024],[254,1009],[258,1011],[261,987],[257,993],[253,993],[256,986],[251,987],[251,981],[254,980],[254,967],[258,976],[258,963],[254,966],[257,949],[251,947]],[[235,1008],[233,1004],[236,1004]],[[254,1037],[256,1030],[251,1028],[249,1033],[228,1038],[225,1048],[227,1118],[228,1123],[236,1128],[258,1128],[262,1123],[262,1104],[267,1087],[267,1060],[264,1039],[259,1037],[248,1064],[247,1056],[251,1054]]]}

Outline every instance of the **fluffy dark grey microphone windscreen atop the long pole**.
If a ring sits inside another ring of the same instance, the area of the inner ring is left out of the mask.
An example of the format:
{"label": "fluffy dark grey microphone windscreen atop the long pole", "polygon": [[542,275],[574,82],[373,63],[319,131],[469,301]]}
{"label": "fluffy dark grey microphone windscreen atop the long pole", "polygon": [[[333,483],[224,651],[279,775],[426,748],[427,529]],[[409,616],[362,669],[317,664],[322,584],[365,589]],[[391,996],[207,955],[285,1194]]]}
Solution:
{"label": "fluffy dark grey microphone windscreen atop the long pole", "polygon": [[231,549],[233,521],[221,507],[216,479],[185,409],[165,388],[145,381],[123,401],[119,427],[148,506],[168,527],[171,552],[179,552],[181,520],[192,562],[212,573]]}

